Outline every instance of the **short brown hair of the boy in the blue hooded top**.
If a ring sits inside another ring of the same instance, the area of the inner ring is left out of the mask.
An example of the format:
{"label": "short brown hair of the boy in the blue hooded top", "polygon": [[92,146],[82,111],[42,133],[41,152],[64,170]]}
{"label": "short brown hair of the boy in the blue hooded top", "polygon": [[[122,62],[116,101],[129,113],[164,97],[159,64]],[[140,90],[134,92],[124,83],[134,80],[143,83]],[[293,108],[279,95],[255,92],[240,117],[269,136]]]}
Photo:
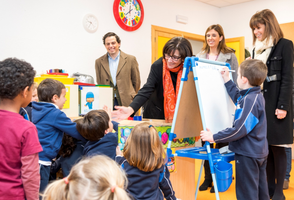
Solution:
{"label": "short brown hair of the boy in the blue hooded top", "polygon": [[39,101],[53,103],[53,96],[57,95],[60,98],[62,89],[65,89],[65,86],[59,80],[52,78],[42,80],[37,89]]}

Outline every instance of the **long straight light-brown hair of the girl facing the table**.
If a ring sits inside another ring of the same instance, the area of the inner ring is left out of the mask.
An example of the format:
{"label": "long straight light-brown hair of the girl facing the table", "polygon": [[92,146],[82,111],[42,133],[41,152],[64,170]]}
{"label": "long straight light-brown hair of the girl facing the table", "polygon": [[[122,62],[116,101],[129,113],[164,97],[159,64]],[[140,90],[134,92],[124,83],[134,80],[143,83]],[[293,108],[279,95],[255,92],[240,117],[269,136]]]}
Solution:
{"label": "long straight light-brown hair of the girl facing the table", "polygon": [[123,156],[131,166],[144,172],[164,165],[165,151],[156,129],[148,123],[136,125],[125,142]]}

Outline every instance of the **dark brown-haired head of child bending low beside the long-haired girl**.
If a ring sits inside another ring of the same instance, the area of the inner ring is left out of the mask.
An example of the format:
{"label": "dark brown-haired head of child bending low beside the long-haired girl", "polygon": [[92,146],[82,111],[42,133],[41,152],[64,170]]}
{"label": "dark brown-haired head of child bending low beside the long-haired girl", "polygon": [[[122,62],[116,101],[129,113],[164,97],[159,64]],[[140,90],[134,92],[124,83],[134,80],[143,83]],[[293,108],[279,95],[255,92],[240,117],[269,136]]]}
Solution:
{"label": "dark brown-haired head of child bending low beside the long-haired girl", "polygon": [[109,116],[104,110],[92,110],[83,119],[78,119],[74,122],[76,123],[77,131],[90,141],[101,139],[113,129]]}

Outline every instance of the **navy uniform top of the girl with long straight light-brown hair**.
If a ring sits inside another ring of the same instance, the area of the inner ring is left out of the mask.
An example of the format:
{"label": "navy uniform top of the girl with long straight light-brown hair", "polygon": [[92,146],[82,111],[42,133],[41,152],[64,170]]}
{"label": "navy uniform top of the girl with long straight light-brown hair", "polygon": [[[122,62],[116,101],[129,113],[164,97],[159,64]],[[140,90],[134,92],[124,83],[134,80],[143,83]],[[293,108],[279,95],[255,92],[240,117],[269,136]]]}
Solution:
{"label": "navy uniform top of the girl with long straight light-brown hair", "polygon": [[116,156],[116,162],[125,171],[128,179],[126,191],[135,200],[176,200],[166,165],[152,172],[143,172],[137,167],[130,166],[122,156]]}

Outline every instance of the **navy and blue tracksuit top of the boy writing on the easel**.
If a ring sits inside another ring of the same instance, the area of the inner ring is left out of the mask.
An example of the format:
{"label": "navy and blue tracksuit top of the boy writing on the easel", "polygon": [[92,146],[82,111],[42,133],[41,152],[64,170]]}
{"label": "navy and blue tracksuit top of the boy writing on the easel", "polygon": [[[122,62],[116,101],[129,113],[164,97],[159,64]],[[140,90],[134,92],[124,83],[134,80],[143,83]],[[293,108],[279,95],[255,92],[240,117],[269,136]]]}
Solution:
{"label": "navy and blue tracksuit top of the boy writing on the easel", "polygon": [[229,142],[229,150],[240,155],[266,157],[269,153],[267,118],[260,86],[239,91],[231,80],[224,85],[231,99],[238,104],[233,127],[214,134],[214,141]]}

